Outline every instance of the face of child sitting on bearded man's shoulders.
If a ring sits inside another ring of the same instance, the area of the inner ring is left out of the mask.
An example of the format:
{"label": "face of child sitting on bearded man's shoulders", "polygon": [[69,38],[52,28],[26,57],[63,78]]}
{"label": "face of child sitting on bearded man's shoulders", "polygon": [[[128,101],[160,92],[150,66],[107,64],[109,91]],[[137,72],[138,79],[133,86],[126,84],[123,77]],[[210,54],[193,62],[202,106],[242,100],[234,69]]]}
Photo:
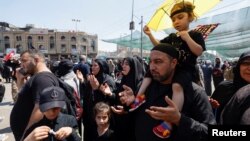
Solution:
{"label": "face of child sitting on bearded man's shoulders", "polygon": [[172,18],[172,24],[173,27],[177,31],[187,31],[189,28],[190,18],[188,16],[188,13],[181,12],[176,15],[174,15]]}

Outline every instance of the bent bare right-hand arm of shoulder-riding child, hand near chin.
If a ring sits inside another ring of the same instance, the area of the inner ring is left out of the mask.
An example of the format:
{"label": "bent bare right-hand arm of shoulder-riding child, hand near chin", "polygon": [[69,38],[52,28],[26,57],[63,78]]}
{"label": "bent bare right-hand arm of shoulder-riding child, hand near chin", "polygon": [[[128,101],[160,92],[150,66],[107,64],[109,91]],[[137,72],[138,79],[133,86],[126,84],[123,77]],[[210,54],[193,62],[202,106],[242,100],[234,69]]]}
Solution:
{"label": "bent bare right-hand arm of shoulder-riding child, hand near chin", "polygon": [[200,56],[203,52],[203,48],[200,44],[196,43],[188,34],[188,31],[180,31],[178,35],[181,36],[181,39],[184,40],[188,47],[190,48],[191,52],[196,56]]}

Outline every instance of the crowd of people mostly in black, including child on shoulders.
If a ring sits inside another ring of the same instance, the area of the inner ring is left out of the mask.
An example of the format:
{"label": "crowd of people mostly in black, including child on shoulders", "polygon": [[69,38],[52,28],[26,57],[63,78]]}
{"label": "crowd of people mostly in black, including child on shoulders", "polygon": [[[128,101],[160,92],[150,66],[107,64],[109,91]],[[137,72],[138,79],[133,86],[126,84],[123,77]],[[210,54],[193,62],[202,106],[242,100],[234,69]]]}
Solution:
{"label": "crowd of people mostly in black, including child on shoulders", "polygon": [[[24,51],[12,67],[16,141],[206,141],[210,125],[250,124],[250,51],[232,65],[220,58],[198,64],[206,47],[201,33],[189,31],[194,8],[176,4],[170,17],[177,33],[160,41],[144,27],[153,43],[149,62],[133,56],[89,63],[82,55],[77,64],[48,63],[37,50]],[[64,113],[58,79],[75,92],[75,116]]]}

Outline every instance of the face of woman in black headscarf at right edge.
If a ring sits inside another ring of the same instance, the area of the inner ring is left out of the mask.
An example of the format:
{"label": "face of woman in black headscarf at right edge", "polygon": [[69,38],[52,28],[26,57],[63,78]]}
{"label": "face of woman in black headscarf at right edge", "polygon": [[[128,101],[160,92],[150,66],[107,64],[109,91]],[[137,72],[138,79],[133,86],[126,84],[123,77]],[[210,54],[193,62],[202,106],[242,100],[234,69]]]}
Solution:
{"label": "face of woman in black headscarf at right edge", "polygon": [[250,58],[243,60],[240,65],[240,76],[250,83]]}

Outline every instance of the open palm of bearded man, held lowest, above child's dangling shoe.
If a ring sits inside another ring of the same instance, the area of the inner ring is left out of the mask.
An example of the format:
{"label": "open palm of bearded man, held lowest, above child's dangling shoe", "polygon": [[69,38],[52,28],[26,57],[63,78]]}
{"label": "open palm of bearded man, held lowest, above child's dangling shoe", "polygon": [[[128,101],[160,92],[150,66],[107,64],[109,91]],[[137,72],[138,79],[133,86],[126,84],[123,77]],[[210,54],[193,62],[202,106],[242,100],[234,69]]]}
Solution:
{"label": "open palm of bearded man, held lowest, above child's dangling shoe", "polygon": [[167,96],[165,97],[165,100],[169,106],[167,107],[151,106],[150,109],[146,109],[146,112],[156,120],[163,120],[169,123],[173,123],[175,125],[179,125],[181,113],[179,112],[178,107]]}

